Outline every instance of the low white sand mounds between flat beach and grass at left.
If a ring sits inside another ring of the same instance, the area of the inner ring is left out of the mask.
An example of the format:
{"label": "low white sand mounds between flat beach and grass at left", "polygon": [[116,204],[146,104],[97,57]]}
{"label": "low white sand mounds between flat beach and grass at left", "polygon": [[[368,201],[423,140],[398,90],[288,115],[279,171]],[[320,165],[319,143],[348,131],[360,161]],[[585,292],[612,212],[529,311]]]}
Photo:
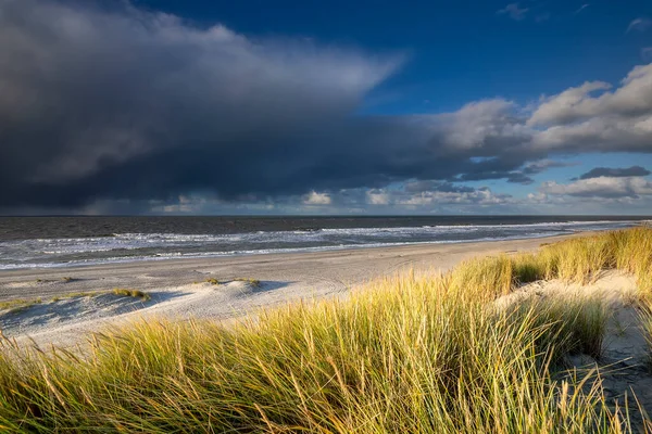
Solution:
{"label": "low white sand mounds between flat beach and grass at left", "polygon": [[149,292],[151,298],[147,301],[112,292],[54,298],[0,312],[0,324],[4,336],[20,343],[70,347],[83,343],[80,339],[92,331],[141,318],[241,316],[256,293],[277,286],[274,282],[255,285],[244,281],[200,282]]}

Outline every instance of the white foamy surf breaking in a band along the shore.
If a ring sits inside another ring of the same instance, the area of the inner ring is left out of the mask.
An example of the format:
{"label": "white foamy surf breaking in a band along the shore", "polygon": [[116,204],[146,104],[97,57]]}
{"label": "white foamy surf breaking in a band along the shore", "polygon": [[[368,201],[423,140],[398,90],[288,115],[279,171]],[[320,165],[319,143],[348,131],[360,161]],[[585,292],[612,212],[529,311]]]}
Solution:
{"label": "white foamy surf breaking in a band along the shore", "polygon": [[641,224],[641,220],[337,228],[233,234],[117,233],[114,237],[20,240],[0,242],[0,269],[60,267],[170,257],[210,257],[512,240],[585,230],[616,229],[638,224]]}

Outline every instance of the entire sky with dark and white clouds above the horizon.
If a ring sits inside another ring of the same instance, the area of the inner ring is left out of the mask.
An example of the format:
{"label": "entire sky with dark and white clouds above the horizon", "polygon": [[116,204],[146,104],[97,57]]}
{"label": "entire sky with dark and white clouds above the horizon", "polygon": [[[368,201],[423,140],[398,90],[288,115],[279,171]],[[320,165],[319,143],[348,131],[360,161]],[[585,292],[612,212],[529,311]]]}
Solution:
{"label": "entire sky with dark and white clouds above the horizon", "polygon": [[652,215],[643,0],[0,0],[0,214]]}

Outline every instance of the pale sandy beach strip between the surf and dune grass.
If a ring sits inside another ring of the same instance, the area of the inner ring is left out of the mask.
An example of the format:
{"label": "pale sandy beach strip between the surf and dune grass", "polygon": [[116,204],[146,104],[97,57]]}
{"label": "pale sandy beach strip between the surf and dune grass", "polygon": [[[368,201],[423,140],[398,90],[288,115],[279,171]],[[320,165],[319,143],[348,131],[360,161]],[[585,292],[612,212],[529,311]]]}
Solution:
{"label": "pale sandy beach strip between the surf and dune grass", "polygon": [[[535,251],[586,234],[5,270],[0,272],[0,302],[39,302],[1,314],[0,327],[5,336],[18,341],[67,346],[90,331],[133,319],[236,318],[299,299],[342,296],[355,285],[400,271],[446,271],[471,257]],[[67,296],[116,288],[145,291],[151,299]]]}

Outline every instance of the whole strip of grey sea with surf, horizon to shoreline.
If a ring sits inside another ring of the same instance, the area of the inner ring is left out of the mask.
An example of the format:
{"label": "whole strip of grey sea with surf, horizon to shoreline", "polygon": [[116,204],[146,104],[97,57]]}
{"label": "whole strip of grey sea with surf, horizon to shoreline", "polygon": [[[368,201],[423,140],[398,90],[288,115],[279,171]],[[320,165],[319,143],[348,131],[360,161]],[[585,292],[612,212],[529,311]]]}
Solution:
{"label": "whole strip of grey sea with surf, horizon to shoreline", "polygon": [[0,217],[0,270],[544,238],[640,217]]}

